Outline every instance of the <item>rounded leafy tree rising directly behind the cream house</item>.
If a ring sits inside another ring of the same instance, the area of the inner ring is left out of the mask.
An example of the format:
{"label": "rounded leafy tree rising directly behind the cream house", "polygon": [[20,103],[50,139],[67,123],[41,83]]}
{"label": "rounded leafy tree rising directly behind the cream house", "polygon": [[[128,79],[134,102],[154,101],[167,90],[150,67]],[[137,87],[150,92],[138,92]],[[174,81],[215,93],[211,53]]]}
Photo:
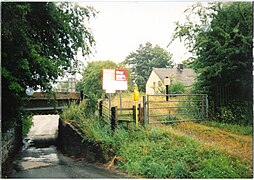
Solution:
{"label": "rounded leafy tree rising directly behind the cream house", "polygon": [[138,84],[140,91],[145,91],[146,82],[151,74],[153,67],[166,68],[172,67],[172,55],[161,48],[155,47],[147,42],[140,45],[136,52],[131,52],[124,61],[132,67],[134,81]]}

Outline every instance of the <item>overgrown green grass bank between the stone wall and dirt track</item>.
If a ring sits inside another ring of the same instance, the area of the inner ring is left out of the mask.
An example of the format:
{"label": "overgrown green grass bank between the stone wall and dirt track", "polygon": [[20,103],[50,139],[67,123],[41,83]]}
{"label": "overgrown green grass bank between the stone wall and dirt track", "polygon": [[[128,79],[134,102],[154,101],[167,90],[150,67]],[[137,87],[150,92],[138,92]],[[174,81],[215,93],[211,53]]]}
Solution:
{"label": "overgrown green grass bank between the stone wall and dirt track", "polygon": [[130,176],[252,178],[252,167],[246,162],[187,135],[156,127],[144,129],[135,126],[129,130],[119,127],[112,134],[108,124],[97,117],[84,115],[82,107],[72,108],[67,110],[70,117],[65,114],[62,118],[78,126],[84,139],[97,142],[104,152],[113,152],[118,159],[117,168]]}

